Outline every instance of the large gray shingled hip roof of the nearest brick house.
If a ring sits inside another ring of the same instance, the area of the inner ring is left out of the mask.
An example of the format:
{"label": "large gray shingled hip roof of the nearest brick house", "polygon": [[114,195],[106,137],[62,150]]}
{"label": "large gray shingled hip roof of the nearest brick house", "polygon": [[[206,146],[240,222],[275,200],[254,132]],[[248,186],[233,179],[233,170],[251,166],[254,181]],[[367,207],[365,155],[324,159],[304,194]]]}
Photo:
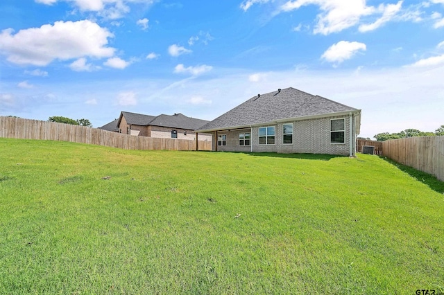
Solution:
{"label": "large gray shingled hip roof of the nearest brick house", "polygon": [[272,123],[285,118],[334,114],[357,111],[321,96],[314,96],[294,88],[273,91],[254,96],[234,107],[222,116],[200,127],[198,130],[216,130]]}

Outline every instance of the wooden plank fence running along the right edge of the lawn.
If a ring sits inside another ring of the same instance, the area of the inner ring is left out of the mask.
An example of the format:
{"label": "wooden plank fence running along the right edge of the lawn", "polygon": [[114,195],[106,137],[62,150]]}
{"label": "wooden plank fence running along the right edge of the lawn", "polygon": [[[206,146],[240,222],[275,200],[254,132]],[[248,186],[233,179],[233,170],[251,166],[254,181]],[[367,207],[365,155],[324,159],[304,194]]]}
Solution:
{"label": "wooden plank fence running along the right edge of the lawn", "polygon": [[444,136],[410,137],[384,141],[384,156],[435,175],[444,181]]}

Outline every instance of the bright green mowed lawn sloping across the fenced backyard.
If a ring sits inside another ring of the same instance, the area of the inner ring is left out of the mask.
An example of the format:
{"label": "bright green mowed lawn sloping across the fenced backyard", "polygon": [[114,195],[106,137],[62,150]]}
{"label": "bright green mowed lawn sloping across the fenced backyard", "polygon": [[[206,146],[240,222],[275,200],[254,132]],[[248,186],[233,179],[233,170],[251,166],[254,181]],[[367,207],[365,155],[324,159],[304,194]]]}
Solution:
{"label": "bright green mowed lawn sloping across the fenced backyard", "polygon": [[438,187],[363,154],[0,138],[0,293],[444,292]]}

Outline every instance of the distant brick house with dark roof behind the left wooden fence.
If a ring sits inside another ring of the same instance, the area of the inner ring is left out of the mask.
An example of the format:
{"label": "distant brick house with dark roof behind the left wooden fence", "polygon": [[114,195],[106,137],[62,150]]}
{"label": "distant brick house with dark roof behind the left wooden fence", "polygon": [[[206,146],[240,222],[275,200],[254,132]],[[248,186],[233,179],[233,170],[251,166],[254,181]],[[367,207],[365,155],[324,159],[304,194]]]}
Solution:
{"label": "distant brick house with dark roof behind the left wooden fence", "polygon": [[[100,128],[135,136],[195,140],[194,130],[206,123],[208,123],[207,120],[190,118],[183,114],[148,116],[121,111],[117,120]],[[200,141],[211,141],[211,139],[211,134],[198,134]]]}

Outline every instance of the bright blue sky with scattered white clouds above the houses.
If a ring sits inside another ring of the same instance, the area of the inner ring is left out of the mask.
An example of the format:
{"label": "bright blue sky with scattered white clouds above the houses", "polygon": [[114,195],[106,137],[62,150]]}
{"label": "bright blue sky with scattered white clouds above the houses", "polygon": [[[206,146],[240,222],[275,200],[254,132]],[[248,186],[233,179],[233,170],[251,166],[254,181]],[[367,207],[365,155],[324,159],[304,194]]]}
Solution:
{"label": "bright blue sky with scattered white clouds above the houses", "polygon": [[361,134],[444,125],[444,0],[1,0],[0,116],[212,120],[293,87]]}

